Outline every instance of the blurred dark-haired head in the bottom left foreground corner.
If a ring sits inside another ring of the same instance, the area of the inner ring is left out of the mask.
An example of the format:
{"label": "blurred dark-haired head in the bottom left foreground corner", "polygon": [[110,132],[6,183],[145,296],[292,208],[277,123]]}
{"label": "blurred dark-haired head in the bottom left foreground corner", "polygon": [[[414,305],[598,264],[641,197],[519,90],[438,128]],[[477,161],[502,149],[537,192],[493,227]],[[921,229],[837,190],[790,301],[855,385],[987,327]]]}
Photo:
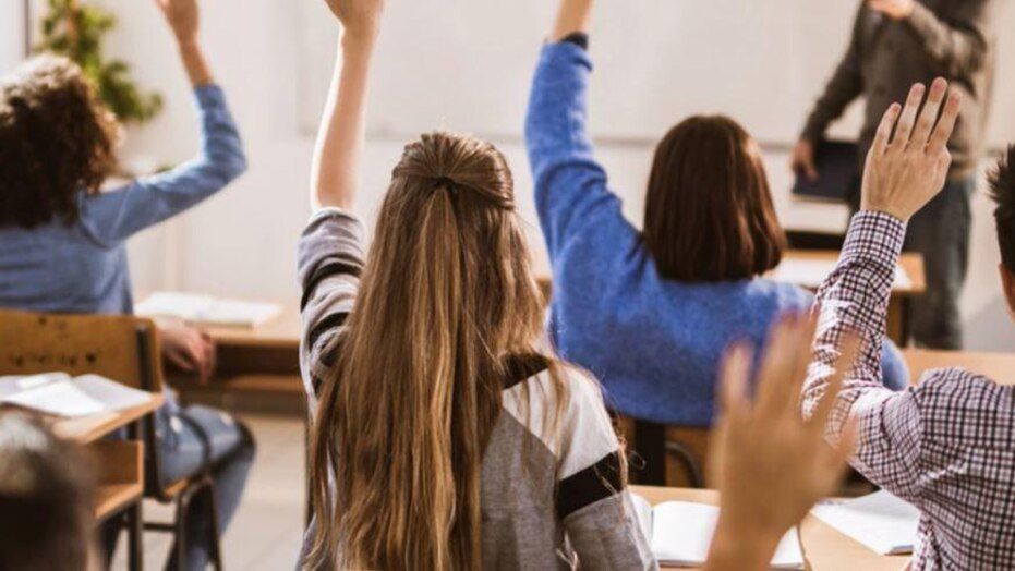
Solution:
{"label": "blurred dark-haired head in the bottom left foreground corner", "polygon": [[21,413],[0,413],[0,570],[88,568],[90,463]]}

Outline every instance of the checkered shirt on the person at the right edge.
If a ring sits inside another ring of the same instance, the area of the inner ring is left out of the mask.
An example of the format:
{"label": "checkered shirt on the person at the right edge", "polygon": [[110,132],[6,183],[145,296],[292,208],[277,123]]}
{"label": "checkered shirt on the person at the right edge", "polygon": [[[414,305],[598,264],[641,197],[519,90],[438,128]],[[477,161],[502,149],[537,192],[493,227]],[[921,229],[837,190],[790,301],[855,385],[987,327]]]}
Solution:
{"label": "checkered shirt on the person at the right edge", "polygon": [[928,372],[893,392],[881,382],[881,347],[906,227],[892,216],[854,217],[842,258],[818,293],[821,314],[803,390],[805,414],[824,393],[847,331],[863,350],[830,430],[859,427],[853,466],[921,511],[911,568],[1015,569],[1015,388],[959,368]]}

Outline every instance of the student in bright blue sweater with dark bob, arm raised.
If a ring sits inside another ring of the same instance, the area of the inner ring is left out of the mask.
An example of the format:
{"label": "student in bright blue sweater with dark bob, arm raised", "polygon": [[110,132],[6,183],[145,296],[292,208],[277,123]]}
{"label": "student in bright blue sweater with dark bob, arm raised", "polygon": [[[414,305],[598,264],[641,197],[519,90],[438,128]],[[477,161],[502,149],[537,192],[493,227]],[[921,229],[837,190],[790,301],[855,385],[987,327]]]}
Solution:
{"label": "student in bright blue sweater with dark bob, arm raised", "polygon": [[[525,144],[553,266],[549,335],[641,420],[712,422],[723,350],[761,347],[812,295],[763,279],[786,247],[757,142],[725,117],[692,117],[660,142],[644,227],[631,226],[587,132],[592,0],[561,0],[532,85]],[[891,347],[889,344],[889,347]],[[908,372],[894,347],[890,385]]]}

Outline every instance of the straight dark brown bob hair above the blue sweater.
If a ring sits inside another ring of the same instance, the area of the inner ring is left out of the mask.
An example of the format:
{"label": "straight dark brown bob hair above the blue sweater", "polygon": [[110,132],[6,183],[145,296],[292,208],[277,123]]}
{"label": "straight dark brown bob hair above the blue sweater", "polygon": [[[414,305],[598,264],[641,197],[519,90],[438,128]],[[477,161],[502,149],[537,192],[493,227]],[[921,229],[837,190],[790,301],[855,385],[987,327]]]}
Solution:
{"label": "straight dark brown bob hair above the blue sweater", "polygon": [[660,142],[645,199],[644,243],[660,274],[741,280],[778,265],[778,224],[758,145],[726,117],[692,117]]}

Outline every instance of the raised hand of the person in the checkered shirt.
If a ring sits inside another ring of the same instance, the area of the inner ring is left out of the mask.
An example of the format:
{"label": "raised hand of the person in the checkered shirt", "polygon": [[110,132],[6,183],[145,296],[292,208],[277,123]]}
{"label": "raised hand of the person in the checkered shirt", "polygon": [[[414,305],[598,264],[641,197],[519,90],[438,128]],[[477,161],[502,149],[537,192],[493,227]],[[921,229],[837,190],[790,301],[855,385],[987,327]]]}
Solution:
{"label": "raised hand of the person in the checkered shirt", "polygon": [[953,92],[945,104],[948,83],[939,77],[919,111],[926,90],[922,84],[914,85],[905,109],[894,104],[885,111],[867,155],[861,209],[890,214],[905,222],[944,187],[952,165],[947,144],[962,96]]}

